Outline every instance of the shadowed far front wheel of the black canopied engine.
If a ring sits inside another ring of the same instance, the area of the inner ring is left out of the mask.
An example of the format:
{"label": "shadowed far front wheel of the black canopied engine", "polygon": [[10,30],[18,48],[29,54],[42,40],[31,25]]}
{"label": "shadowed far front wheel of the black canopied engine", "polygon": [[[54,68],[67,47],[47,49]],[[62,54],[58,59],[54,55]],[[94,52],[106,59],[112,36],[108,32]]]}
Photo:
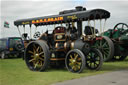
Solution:
{"label": "shadowed far front wheel of the black canopied engine", "polygon": [[102,53],[95,48],[92,48],[86,56],[86,67],[91,70],[99,70],[103,64]]}

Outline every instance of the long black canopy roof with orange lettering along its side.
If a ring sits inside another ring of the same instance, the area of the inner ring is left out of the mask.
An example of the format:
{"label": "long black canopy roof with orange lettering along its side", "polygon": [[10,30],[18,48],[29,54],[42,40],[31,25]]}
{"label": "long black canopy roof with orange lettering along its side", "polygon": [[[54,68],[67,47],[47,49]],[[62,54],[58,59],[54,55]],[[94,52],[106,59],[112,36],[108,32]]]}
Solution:
{"label": "long black canopy roof with orange lettering along its side", "polygon": [[77,22],[77,21],[88,21],[88,20],[97,20],[97,19],[107,19],[110,17],[110,12],[104,9],[92,9],[92,10],[68,10],[62,11],[58,15],[52,16],[43,16],[43,17],[35,17],[29,19],[20,19],[14,21],[15,26],[20,25],[32,25],[41,26],[41,25],[52,25],[52,24],[62,24],[69,22]]}

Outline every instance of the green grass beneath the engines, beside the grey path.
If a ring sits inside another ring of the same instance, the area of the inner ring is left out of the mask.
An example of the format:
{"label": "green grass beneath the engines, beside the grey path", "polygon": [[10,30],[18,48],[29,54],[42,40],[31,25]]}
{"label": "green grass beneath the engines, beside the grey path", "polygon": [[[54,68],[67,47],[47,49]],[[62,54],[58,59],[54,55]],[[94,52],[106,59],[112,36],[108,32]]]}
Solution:
{"label": "green grass beneath the engines, beside the grey path", "polygon": [[64,80],[91,76],[105,72],[128,69],[128,59],[121,62],[104,63],[100,71],[85,69],[81,74],[67,69],[48,69],[46,72],[30,71],[21,59],[0,59],[0,85],[50,85]]}

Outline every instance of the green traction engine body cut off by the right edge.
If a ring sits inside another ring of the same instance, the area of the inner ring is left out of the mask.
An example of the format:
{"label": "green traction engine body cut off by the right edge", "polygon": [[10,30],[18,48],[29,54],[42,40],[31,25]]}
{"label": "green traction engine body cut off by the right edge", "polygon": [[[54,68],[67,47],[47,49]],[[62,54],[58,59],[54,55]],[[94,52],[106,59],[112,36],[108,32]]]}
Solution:
{"label": "green traction engine body cut off by the right edge", "polygon": [[104,32],[104,36],[111,39],[114,44],[113,60],[124,60],[128,56],[128,25],[118,23],[113,29]]}

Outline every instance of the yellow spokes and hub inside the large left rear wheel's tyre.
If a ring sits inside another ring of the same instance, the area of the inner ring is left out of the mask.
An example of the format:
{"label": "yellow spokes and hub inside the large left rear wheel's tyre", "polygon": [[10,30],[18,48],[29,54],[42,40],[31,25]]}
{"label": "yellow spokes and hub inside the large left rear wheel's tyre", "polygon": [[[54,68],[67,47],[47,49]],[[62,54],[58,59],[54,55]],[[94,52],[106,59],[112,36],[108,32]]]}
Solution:
{"label": "yellow spokes and hub inside the large left rear wheel's tyre", "polygon": [[27,63],[30,65],[30,69],[40,70],[44,64],[44,51],[42,47],[36,43],[32,43],[27,50]]}

